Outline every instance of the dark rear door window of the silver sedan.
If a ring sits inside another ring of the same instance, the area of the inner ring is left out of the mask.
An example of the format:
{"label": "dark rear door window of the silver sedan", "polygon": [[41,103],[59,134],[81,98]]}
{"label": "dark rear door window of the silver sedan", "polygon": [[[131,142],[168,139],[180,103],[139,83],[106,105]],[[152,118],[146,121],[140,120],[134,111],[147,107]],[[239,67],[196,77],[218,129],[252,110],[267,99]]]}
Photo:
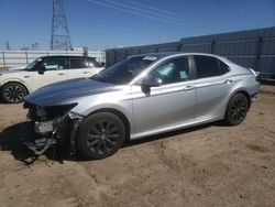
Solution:
{"label": "dark rear door window of the silver sedan", "polygon": [[218,59],[209,56],[194,56],[197,68],[197,77],[212,77],[220,75],[220,67],[218,64]]}

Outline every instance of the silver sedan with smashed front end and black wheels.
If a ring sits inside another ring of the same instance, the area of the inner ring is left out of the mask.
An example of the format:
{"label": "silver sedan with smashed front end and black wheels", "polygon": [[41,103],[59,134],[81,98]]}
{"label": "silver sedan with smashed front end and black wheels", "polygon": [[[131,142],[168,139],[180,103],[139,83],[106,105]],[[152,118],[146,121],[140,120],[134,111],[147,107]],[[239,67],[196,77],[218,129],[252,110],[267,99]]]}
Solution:
{"label": "silver sedan with smashed front end and black wheels", "polygon": [[127,140],[223,120],[240,124],[260,89],[253,69],[200,53],[131,56],[90,78],[45,86],[25,97],[36,154],[68,144],[103,159]]}

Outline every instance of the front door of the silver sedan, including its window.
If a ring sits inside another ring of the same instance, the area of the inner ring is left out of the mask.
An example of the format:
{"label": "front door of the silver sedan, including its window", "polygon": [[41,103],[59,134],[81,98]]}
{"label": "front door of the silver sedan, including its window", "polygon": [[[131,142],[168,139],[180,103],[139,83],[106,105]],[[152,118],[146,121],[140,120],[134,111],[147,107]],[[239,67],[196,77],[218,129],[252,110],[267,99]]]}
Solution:
{"label": "front door of the silver sedan, including its window", "polygon": [[162,85],[151,87],[150,92],[142,86],[132,86],[133,138],[168,131],[194,121],[196,88],[191,86],[187,56],[165,61],[147,76],[160,77]]}

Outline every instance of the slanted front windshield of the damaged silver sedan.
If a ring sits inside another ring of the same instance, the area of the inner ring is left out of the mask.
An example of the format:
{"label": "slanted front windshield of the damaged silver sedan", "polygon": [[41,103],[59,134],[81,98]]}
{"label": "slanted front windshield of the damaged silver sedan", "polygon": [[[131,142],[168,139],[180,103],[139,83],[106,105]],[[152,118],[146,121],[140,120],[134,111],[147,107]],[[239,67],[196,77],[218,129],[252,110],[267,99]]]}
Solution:
{"label": "slanted front windshield of the damaged silver sedan", "polygon": [[130,57],[101,70],[91,79],[118,85],[129,84],[156,59],[153,56]]}

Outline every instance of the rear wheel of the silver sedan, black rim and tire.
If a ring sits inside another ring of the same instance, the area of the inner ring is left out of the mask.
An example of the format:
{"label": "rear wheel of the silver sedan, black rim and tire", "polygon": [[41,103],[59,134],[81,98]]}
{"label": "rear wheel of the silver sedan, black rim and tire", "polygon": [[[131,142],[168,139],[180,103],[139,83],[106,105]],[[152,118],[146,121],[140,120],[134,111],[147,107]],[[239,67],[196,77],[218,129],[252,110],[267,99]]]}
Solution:
{"label": "rear wheel of the silver sedan, black rim and tire", "polygon": [[249,111],[249,105],[245,95],[240,92],[235,94],[228,103],[224,122],[228,126],[238,126],[243,122]]}

